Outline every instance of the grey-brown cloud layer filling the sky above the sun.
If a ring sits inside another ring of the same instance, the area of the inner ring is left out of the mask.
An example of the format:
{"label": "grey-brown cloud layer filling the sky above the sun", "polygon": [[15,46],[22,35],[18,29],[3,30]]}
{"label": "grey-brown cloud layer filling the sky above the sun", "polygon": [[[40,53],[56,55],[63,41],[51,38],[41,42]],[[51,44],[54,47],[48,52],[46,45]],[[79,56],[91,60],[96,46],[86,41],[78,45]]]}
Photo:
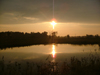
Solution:
{"label": "grey-brown cloud layer filling the sky above the sun", "polygon": [[[99,0],[55,0],[54,6],[58,22],[100,24]],[[52,18],[52,0],[0,0],[0,24],[47,22]]]}

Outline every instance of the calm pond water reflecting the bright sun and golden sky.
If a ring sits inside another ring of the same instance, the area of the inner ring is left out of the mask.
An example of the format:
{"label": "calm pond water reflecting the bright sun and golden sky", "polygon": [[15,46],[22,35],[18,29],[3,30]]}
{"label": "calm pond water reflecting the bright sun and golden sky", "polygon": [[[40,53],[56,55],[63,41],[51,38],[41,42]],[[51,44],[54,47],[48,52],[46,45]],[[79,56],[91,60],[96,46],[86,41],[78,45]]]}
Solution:
{"label": "calm pond water reflecting the bright sun and golden sky", "polygon": [[0,60],[4,56],[5,61],[66,61],[72,56],[84,57],[92,53],[100,55],[98,45],[71,45],[71,44],[50,44],[33,45],[26,47],[15,47],[0,50]]}

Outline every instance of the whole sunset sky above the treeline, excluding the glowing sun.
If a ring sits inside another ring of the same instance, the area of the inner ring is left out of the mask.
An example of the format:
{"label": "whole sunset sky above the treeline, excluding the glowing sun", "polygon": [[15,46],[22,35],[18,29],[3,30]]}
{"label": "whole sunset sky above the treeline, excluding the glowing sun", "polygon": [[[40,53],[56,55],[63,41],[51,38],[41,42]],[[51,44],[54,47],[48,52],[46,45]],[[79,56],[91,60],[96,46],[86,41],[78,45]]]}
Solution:
{"label": "whole sunset sky above the treeline, excluding the glowing sun", "polygon": [[0,0],[0,32],[57,31],[59,36],[100,35],[100,0]]}

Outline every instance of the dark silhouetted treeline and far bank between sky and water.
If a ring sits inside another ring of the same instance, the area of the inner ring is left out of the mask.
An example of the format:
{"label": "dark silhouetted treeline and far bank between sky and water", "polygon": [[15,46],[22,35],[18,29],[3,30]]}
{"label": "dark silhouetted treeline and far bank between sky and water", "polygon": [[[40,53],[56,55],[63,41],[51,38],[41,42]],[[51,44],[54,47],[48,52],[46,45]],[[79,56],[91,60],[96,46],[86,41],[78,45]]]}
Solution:
{"label": "dark silhouetted treeline and far bank between sky and water", "polygon": [[99,35],[86,35],[86,36],[57,36],[57,32],[42,33],[31,32],[0,32],[0,48],[29,46],[35,44],[49,44],[49,43],[69,43],[69,44],[99,44]]}

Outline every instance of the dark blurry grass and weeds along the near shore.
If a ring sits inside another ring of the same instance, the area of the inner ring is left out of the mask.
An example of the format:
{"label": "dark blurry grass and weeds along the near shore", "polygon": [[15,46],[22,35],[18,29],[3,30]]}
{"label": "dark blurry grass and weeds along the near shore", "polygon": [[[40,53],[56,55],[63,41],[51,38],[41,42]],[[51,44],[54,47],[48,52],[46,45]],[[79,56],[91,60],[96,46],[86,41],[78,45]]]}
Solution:
{"label": "dark blurry grass and weeds along the near shore", "polygon": [[4,56],[0,61],[0,75],[100,75],[100,57],[90,54],[89,57],[77,59],[71,57],[70,64],[67,61],[34,63],[5,64]]}

